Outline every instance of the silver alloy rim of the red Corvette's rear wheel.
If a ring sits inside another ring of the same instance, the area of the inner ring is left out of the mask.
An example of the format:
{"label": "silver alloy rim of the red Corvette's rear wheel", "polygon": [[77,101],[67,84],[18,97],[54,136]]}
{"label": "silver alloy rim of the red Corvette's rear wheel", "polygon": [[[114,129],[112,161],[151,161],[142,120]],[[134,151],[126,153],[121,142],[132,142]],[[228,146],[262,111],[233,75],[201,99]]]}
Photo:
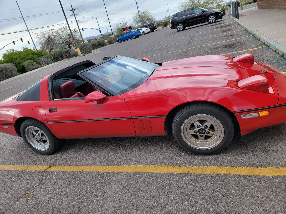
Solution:
{"label": "silver alloy rim of the red Corvette's rear wheel", "polygon": [[47,135],[35,126],[28,126],[25,130],[25,137],[29,144],[37,150],[46,151],[50,147]]}

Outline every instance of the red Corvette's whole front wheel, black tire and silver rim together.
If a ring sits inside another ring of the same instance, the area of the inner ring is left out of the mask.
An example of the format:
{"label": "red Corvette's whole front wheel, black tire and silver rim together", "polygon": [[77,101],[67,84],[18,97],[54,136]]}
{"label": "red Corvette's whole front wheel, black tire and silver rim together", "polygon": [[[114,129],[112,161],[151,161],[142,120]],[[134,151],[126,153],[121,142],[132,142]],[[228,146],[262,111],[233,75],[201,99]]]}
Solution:
{"label": "red Corvette's whole front wheel, black tire and silver rim together", "polygon": [[223,108],[214,104],[190,104],[177,112],[172,123],[176,142],[198,155],[224,150],[234,135],[233,121]]}

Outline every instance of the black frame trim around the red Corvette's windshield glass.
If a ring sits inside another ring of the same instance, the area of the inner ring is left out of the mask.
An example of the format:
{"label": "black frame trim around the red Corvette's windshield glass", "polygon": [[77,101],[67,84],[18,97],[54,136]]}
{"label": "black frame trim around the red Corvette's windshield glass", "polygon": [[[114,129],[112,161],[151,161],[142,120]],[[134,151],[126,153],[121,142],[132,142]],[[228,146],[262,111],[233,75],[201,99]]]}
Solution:
{"label": "black frame trim around the red Corvette's windshield glass", "polygon": [[[118,95],[124,94],[124,93],[126,93],[126,92],[129,92],[129,91],[130,91],[130,88],[134,88],[134,86],[135,86],[135,88],[137,88],[138,86],[142,85],[144,82],[146,82],[146,81],[148,80],[148,78],[150,77],[150,75],[152,74],[152,72],[159,67],[159,65],[153,63],[153,64],[154,64],[154,67],[153,67],[144,77],[142,77],[140,80],[138,80],[137,82],[135,82],[133,85],[129,86],[128,88],[125,88],[124,90],[122,90],[122,91],[120,91],[120,92],[117,92],[117,93],[113,92],[112,90],[110,90],[110,89],[107,88],[106,86],[100,84],[99,82],[97,82],[97,81],[95,81],[95,80],[92,80],[92,79],[87,78],[86,76],[84,76],[83,73],[84,73],[85,71],[88,71],[88,70],[90,70],[90,69],[92,69],[92,68],[95,68],[96,66],[99,66],[99,65],[101,65],[101,64],[103,64],[103,63],[105,63],[105,62],[107,62],[107,61],[109,61],[109,60],[112,60],[112,59],[114,59],[114,58],[117,57],[117,56],[118,56],[118,55],[114,55],[114,56],[110,57],[109,59],[104,60],[103,62],[100,62],[100,63],[98,63],[98,64],[96,64],[96,65],[94,65],[94,66],[91,66],[91,67],[89,67],[89,68],[87,68],[87,69],[85,69],[85,70],[82,70],[82,71],[78,72],[78,75],[79,75],[80,77],[82,77],[83,79],[85,79],[86,81],[90,82],[91,84],[94,84],[94,86],[96,86],[96,87],[98,87],[98,88],[104,90],[106,93],[108,93],[108,94],[110,94],[110,95],[113,95],[113,96],[118,96]],[[127,56],[124,56],[124,57],[127,57]],[[128,57],[128,58],[130,58],[130,57]],[[135,88],[134,88],[134,89],[135,89]],[[133,89],[132,89],[132,90],[133,90]]]}

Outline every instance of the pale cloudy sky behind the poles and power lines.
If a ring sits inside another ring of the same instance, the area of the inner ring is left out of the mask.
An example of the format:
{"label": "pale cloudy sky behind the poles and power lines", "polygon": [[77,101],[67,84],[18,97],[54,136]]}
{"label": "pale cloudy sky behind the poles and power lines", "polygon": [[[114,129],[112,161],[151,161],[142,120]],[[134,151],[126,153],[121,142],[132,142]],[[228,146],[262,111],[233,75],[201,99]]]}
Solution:
{"label": "pale cloudy sky behind the poles and power lines", "polygon": [[[40,31],[48,31],[50,29],[57,29],[65,24],[65,18],[58,0],[17,0],[22,14],[25,18],[29,29],[40,28],[31,30],[34,33]],[[164,3],[162,3],[164,2]],[[67,16],[68,22],[71,27],[77,28],[74,17],[70,15],[72,12],[70,4],[74,8],[77,8],[75,13],[78,14],[80,28],[98,28],[96,19],[83,18],[83,16],[92,16],[98,18],[100,29],[102,33],[110,31],[110,26],[106,16],[103,0],[61,0],[63,9]],[[138,0],[140,11],[148,10],[153,14],[155,19],[162,19],[167,16],[167,9],[169,5],[170,15],[173,15],[178,11],[178,1],[173,0]],[[105,0],[106,9],[110,19],[111,27],[113,28],[116,23],[122,23],[122,21],[132,23],[132,17],[137,13],[137,7],[135,0]],[[14,48],[16,50],[21,49],[23,46],[33,48],[33,43],[29,37],[28,32],[22,32],[27,30],[25,23],[21,17],[20,11],[17,7],[15,0],[0,0],[0,49],[12,41],[16,41],[23,38],[23,42],[18,41],[16,45],[7,45],[0,51],[0,58],[2,54],[7,50]],[[47,27],[50,26],[50,27]],[[20,31],[19,33],[11,33]],[[10,34],[7,34],[10,33]],[[86,29],[82,32],[83,37],[98,35],[99,31],[93,29]],[[37,35],[31,33],[34,41],[37,41]],[[28,44],[27,41],[30,41]],[[39,44],[35,43],[37,48]]]}

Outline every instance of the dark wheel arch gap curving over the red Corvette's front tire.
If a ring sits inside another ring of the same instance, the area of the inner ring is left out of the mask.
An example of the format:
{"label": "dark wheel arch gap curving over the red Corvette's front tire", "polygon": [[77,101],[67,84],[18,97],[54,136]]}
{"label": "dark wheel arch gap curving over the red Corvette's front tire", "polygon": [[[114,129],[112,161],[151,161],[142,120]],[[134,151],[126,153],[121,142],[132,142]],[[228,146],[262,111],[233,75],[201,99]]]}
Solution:
{"label": "dark wheel arch gap curving over the red Corvette's front tire", "polygon": [[185,106],[187,106],[189,104],[194,104],[194,103],[197,103],[197,104],[201,103],[201,104],[205,104],[206,106],[212,104],[212,105],[215,105],[217,107],[224,109],[231,116],[231,119],[232,119],[233,124],[235,126],[235,130],[239,130],[239,132],[240,132],[240,126],[239,126],[239,122],[237,121],[237,118],[235,117],[233,112],[231,112],[225,106],[222,106],[222,105],[217,104],[215,102],[209,102],[209,101],[190,101],[190,102],[185,102],[185,103],[182,103],[178,106],[175,106],[172,110],[170,110],[168,112],[166,119],[165,119],[165,122],[164,122],[164,129],[165,129],[166,134],[172,133],[172,122],[173,122],[173,119],[174,119],[176,112],[178,112],[180,109],[184,108]]}

